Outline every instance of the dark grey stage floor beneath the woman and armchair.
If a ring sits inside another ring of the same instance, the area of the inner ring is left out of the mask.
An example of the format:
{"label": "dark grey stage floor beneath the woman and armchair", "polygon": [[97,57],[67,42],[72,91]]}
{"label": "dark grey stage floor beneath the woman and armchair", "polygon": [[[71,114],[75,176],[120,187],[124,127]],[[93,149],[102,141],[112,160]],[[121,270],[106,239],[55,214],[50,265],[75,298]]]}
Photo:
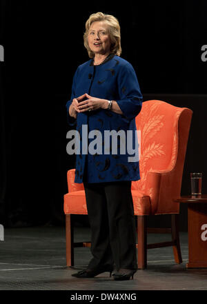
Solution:
{"label": "dark grey stage floor beneath the woman and armchair", "polygon": [[[148,268],[130,281],[114,281],[108,272],[75,278],[91,259],[90,248],[75,248],[75,267],[66,267],[64,227],[7,228],[0,242],[0,290],[207,290],[207,269],[186,269],[188,234],[180,233],[183,263],[175,264],[172,247],[148,250]],[[170,234],[148,234],[148,243]],[[75,241],[90,241],[88,227],[75,228]]]}

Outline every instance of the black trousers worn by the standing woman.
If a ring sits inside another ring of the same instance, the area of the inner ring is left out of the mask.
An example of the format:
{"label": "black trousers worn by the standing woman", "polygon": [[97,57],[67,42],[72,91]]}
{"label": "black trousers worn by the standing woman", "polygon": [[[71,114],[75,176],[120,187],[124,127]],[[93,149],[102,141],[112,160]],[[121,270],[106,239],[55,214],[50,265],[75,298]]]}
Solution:
{"label": "black trousers worn by the standing woman", "polygon": [[83,184],[91,228],[88,268],[115,265],[117,270],[137,270],[131,181]]}

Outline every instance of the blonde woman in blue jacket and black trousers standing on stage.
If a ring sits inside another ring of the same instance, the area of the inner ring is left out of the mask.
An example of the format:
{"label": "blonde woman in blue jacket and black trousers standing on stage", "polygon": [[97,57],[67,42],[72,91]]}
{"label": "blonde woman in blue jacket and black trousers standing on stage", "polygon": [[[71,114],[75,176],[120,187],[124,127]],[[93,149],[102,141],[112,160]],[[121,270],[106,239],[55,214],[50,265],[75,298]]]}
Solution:
{"label": "blonde woman in blue jacket and black trousers standing on stage", "polygon": [[[66,104],[68,123],[77,125],[81,142],[86,142],[85,125],[88,132],[99,130],[103,136],[106,130],[124,134],[131,130],[135,143],[142,95],[135,70],[120,57],[119,21],[102,12],[91,14],[83,38],[90,60],[75,72]],[[72,276],[90,278],[109,271],[115,280],[126,280],[137,271],[131,181],[140,179],[139,161],[129,161],[128,151],[121,153],[121,136],[117,154],[106,147],[103,136],[101,153],[81,151],[76,156],[75,183],[83,183],[86,192],[92,259],[86,270]]]}

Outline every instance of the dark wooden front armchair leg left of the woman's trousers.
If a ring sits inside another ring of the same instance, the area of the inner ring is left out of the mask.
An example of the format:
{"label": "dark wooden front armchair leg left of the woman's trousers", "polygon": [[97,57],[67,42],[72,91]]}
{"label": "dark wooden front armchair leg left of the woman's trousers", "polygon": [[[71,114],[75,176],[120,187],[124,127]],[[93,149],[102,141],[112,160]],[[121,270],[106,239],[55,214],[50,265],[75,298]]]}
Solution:
{"label": "dark wooden front armchair leg left of the woman's trousers", "polygon": [[66,264],[74,266],[73,223],[71,214],[66,214]]}

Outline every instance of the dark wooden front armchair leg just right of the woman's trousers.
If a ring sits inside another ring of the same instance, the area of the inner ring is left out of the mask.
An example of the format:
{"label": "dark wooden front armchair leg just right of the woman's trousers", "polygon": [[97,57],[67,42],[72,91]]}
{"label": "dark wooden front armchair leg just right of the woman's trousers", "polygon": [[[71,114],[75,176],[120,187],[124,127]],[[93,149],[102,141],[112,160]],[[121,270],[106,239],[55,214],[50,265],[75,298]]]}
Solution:
{"label": "dark wooden front armchair leg just right of the woman's trousers", "polygon": [[145,269],[147,267],[147,230],[146,216],[137,216],[137,255],[138,268]]}

